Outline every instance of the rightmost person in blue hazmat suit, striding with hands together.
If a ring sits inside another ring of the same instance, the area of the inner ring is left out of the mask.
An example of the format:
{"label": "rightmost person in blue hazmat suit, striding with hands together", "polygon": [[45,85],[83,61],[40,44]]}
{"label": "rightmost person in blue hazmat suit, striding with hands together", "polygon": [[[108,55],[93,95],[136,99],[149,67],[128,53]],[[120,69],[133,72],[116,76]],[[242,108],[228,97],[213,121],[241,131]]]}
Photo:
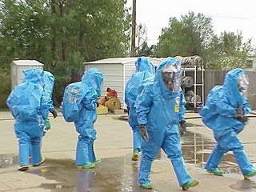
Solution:
{"label": "rightmost person in blue hazmat suit, striding with hands together", "polygon": [[232,151],[244,178],[256,174],[237,136],[248,122],[245,115],[250,113],[250,105],[246,99],[248,85],[242,69],[230,70],[225,76],[223,86],[214,86],[210,90],[206,105],[199,111],[202,122],[213,130],[217,141],[206,162],[207,172],[222,176],[223,172],[218,170],[218,163],[221,162],[223,154]]}

